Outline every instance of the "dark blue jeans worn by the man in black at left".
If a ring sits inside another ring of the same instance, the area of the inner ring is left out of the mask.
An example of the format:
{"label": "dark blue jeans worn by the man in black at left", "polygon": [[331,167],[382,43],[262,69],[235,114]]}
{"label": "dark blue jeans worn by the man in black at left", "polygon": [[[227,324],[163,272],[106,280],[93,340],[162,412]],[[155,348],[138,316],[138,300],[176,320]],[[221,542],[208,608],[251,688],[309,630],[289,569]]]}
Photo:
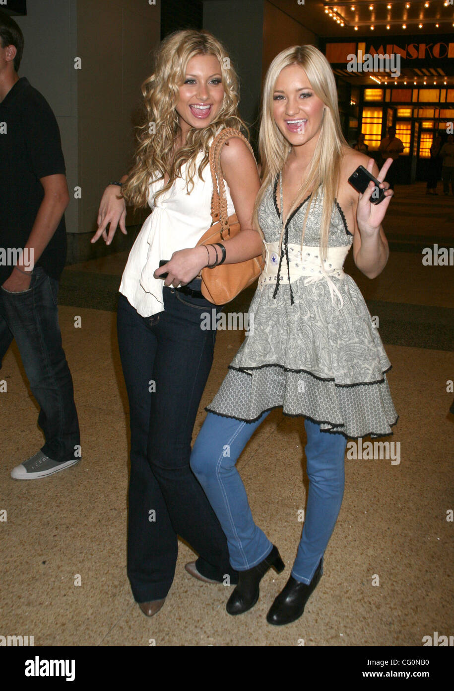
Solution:
{"label": "dark blue jeans worn by the man in black at left", "polygon": [[0,368],[14,338],[41,408],[38,424],[46,440],[41,451],[64,462],[79,455],[75,447],[80,434],[71,372],[61,346],[58,290],[58,281],[41,267],[35,267],[28,290],[14,293],[0,288]]}

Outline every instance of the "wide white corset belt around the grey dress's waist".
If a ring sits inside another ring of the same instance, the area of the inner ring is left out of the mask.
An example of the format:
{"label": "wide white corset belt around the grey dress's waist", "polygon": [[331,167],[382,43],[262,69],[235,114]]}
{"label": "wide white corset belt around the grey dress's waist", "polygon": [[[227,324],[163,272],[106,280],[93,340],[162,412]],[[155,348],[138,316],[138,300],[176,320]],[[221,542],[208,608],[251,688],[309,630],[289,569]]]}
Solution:
{"label": "wide white corset belt around the grey dress's waist", "polygon": [[[264,245],[266,247],[266,259],[265,268],[259,278],[260,290],[265,285],[276,285],[277,269],[279,267],[279,242],[264,243]],[[334,294],[337,294],[339,307],[342,307],[344,304],[342,295],[331,279],[339,278],[339,280],[343,280],[345,276],[343,269],[344,261],[350,247],[351,245],[328,247],[326,259],[322,262],[319,256],[319,247],[308,247],[307,245],[301,247],[301,245],[290,245],[288,243],[288,270],[285,257],[283,257],[279,283],[294,283],[302,276],[307,276],[304,285],[326,281],[333,305],[335,304]],[[288,274],[290,274],[290,281],[288,281]]]}

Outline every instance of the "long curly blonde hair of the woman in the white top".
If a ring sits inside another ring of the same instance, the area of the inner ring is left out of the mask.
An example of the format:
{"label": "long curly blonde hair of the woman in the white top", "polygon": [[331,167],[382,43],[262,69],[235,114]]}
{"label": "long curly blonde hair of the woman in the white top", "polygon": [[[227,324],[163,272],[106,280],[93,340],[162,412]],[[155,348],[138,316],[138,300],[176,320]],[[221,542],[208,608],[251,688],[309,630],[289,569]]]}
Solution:
{"label": "long curly blonde hair of the woman in the white top", "polygon": [[[175,110],[179,100],[179,86],[184,83],[188,61],[195,55],[217,57],[224,86],[224,100],[216,119],[204,128],[191,128],[184,146],[181,146],[172,159],[175,138],[180,132],[179,115]],[[181,167],[185,163],[188,164],[186,186],[190,193],[194,186],[197,155],[201,151],[204,153],[197,171],[199,178],[203,179],[201,173],[208,164],[210,140],[220,126],[243,129],[247,133],[246,125],[237,113],[237,75],[226,49],[208,31],[185,29],[166,37],[155,56],[155,71],[142,84],[141,91],[146,111],[145,122],[138,128],[135,164],[122,188],[128,204],[137,209],[146,207],[148,203],[148,184],[151,180],[163,180],[166,174],[169,176],[167,184],[156,193],[156,199],[172,187],[173,182],[181,175]]]}

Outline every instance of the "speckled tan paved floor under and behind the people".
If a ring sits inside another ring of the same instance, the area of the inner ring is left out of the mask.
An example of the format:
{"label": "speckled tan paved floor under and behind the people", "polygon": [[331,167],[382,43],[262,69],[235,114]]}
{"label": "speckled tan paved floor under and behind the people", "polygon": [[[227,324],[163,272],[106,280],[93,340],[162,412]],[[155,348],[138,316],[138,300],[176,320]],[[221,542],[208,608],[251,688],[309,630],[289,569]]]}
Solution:
{"label": "speckled tan paved floor under and behind the people", "polygon": [[[166,604],[146,618],[126,577],[127,401],[112,312],[126,256],[68,267],[60,321],[83,461],[45,480],[11,479],[11,468],[42,444],[36,404],[13,346],[0,372],[8,385],[0,393],[0,511],[7,515],[0,521],[0,634],[32,635],[35,646],[146,646],[150,639],[156,645],[287,646],[301,638],[306,645],[419,646],[434,631],[452,634],[453,523],[446,512],[454,508],[454,415],[446,382],[454,379],[454,267],[423,266],[421,250],[453,246],[453,221],[453,197],[427,197],[422,184],[397,187],[385,223],[391,258],[383,274],[370,281],[348,264],[369,305],[380,310],[400,415],[392,438],[400,444],[400,463],[346,460],[344,502],[324,576],[304,616],[281,628],[270,627],[265,616],[290,574],[302,529],[302,421],[273,411],[238,466],[255,520],[279,546],[286,571],[268,574],[257,605],[230,617],[228,589],[191,578],[184,563],[194,554],[180,543]],[[246,310],[248,299],[250,292],[235,310]],[[81,328],[74,328],[76,315]],[[241,340],[241,332],[218,333],[195,433]],[[373,585],[376,576],[379,585]]]}

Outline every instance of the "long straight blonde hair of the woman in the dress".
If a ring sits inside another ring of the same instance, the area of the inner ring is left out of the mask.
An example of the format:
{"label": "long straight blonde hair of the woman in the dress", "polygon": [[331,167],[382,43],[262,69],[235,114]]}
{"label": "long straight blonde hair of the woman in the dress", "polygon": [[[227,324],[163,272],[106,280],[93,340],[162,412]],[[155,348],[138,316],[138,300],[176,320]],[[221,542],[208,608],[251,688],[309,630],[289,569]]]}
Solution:
{"label": "long straight blonde hair of the woman in the dress", "polygon": [[[273,117],[273,93],[279,73],[290,65],[299,65],[304,69],[310,86],[315,95],[326,106],[322,126],[315,152],[308,168],[306,180],[292,200],[284,224],[291,212],[308,196],[308,205],[302,227],[302,239],[309,214],[310,205],[317,196],[319,185],[322,184],[324,194],[322,229],[320,233],[320,255],[326,258],[330,219],[333,213],[333,203],[337,194],[340,179],[340,164],[342,146],[347,142],[342,134],[337,106],[337,89],[333,70],[323,53],[314,46],[292,46],[279,53],[270,64],[264,82],[264,96],[262,105],[261,124],[259,132],[259,154],[261,160],[262,184],[257,195],[254,209],[255,227],[259,228],[258,208],[269,184],[274,184],[275,178],[288,158],[291,144],[282,135]],[[281,213],[283,210],[281,209]],[[279,240],[282,245],[284,227]]]}

